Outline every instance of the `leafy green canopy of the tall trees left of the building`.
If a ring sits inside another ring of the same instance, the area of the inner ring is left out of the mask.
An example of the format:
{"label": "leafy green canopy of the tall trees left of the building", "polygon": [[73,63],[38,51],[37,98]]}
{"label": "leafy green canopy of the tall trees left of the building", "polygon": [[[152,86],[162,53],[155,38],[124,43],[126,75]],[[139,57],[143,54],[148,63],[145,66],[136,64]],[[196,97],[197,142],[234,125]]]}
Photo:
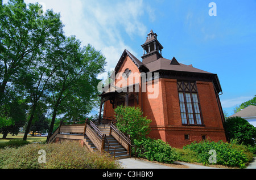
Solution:
{"label": "leafy green canopy of the tall trees left of the building", "polygon": [[18,127],[11,116],[13,93],[27,105],[20,107],[27,120],[23,140],[47,111],[49,134],[56,115],[73,120],[89,114],[98,105],[97,76],[106,65],[100,51],[65,37],[60,14],[40,14],[40,8],[23,0],[0,3],[0,128]]}

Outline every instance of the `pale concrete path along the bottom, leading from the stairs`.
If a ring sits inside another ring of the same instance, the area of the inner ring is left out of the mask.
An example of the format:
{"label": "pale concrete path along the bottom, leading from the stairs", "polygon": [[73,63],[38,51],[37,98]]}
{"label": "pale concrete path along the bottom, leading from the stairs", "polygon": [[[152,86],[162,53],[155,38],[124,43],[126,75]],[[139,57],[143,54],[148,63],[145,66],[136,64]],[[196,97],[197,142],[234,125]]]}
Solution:
{"label": "pale concrete path along the bottom, leading from the stairs", "polygon": [[216,169],[208,166],[201,166],[196,164],[190,164],[187,162],[177,162],[172,166],[166,166],[162,164],[157,164],[155,162],[149,162],[144,160],[134,160],[134,158],[126,158],[118,160],[123,168],[126,169],[180,169],[180,168],[190,168],[190,169]]}

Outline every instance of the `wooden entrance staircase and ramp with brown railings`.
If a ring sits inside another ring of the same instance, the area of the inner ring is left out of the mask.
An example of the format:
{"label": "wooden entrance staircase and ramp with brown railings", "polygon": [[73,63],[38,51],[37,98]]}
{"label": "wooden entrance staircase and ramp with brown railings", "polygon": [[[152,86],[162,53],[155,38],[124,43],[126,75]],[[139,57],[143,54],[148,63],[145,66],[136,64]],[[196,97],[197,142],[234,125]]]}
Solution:
{"label": "wooden entrance staircase and ramp with brown railings", "polygon": [[131,157],[132,145],[130,139],[123,135],[112,123],[97,126],[92,121],[80,125],[62,124],[49,138],[49,143],[54,142],[56,138],[83,139],[86,147],[91,152],[108,152],[117,159]]}

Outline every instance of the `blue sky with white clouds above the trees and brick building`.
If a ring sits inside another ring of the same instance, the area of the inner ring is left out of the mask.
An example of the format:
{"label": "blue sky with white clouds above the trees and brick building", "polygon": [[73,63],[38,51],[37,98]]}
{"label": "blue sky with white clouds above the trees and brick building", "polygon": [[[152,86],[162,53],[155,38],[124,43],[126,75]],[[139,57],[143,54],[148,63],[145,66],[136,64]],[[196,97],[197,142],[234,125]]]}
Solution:
{"label": "blue sky with white clouds above the trees and brick building", "polygon": [[[6,0],[3,2],[7,2]],[[163,45],[163,57],[218,75],[222,108],[256,95],[256,1],[217,0],[25,0],[61,13],[67,36],[76,35],[105,55],[107,71],[124,49],[141,59],[151,29]],[[209,3],[217,16],[209,16]],[[103,76],[102,76],[103,77]]]}

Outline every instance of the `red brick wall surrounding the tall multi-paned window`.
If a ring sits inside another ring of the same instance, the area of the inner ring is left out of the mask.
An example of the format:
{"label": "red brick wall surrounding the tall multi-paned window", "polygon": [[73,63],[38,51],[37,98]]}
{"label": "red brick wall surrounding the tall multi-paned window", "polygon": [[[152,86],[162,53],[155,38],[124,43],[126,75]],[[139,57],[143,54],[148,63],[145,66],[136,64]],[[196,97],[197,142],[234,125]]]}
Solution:
{"label": "red brick wall surrounding the tall multi-paned window", "polygon": [[[214,93],[212,82],[197,82],[199,92],[199,100],[203,121],[205,126],[184,126],[181,123],[179,95],[177,92],[177,81],[175,79],[160,79],[160,92],[155,101],[155,105],[162,103],[163,109],[159,110],[159,114],[163,111],[163,117],[154,117],[154,123],[151,124],[152,131],[148,136],[154,139],[162,139],[168,142],[172,147],[182,148],[185,144],[194,141],[201,141],[205,135],[207,139],[214,141],[223,140],[226,142],[224,128],[222,126],[221,114],[218,109],[217,98]],[[144,106],[144,102],[143,102]],[[150,105],[147,105],[148,107]],[[159,106],[160,107],[160,106]],[[144,109],[144,108],[143,108]],[[144,114],[151,118],[147,110]],[[185,135],[189,135],[189,140],[185,140]]]}

